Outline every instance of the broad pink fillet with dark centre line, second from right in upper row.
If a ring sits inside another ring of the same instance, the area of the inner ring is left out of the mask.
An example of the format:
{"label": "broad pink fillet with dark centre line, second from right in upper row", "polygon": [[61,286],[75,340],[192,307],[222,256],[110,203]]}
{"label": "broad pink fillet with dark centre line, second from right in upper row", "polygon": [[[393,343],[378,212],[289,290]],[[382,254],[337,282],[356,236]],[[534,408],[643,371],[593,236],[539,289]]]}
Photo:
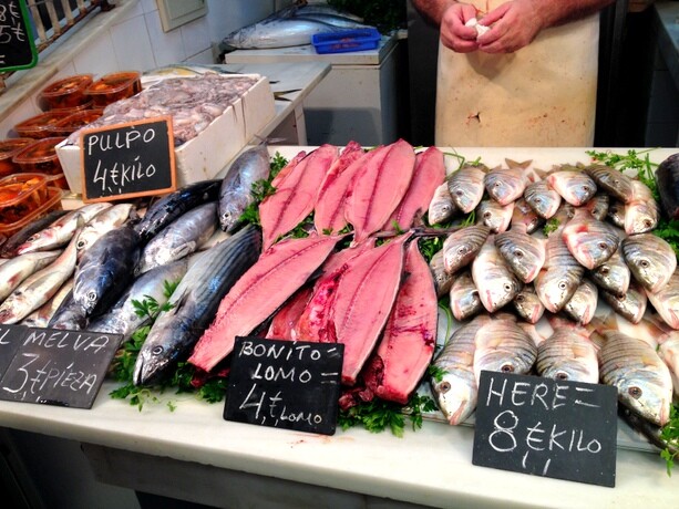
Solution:
{"label": "broad pink fillet with dark centre line, second from right in upper row", "polygon": [[377,148],[356,175],[347,204],[347,220],[353,226],[354,242],[378,231],[403,199],[415,164],[412,146],[399,139]]}

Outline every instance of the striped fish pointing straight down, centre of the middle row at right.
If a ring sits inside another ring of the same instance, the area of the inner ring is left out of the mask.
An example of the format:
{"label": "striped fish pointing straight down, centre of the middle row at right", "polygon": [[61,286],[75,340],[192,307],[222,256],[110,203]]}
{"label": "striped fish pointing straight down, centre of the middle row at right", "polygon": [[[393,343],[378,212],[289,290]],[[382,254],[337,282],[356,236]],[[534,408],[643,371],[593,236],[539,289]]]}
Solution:
{"label": "striped fish pointing straight down, centre of the middle row at right", "polygon": [[585,268],[580,266],[557,229],[547,237],[545,264],[533,281],[537,297],[552,313],[560,311],[580,285]]}

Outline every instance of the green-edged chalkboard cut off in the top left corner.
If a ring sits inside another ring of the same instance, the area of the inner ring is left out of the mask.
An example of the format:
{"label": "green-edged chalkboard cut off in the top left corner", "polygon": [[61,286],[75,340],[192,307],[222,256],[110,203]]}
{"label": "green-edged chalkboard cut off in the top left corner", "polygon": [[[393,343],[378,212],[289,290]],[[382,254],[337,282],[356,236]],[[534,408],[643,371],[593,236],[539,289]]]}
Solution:
{"label": "green-edged chalkboard cut off in the top left corner", "polygon": [[33,67],[38,52],[23,0],[0,0],[0,71]]}

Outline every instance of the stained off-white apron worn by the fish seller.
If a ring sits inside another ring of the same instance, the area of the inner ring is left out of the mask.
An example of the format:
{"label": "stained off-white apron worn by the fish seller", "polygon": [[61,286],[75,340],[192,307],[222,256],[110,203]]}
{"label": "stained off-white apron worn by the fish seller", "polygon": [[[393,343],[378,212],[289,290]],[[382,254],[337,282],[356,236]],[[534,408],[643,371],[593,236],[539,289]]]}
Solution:
{"label": "stained off-white apron worn by the fish seller", "polygon": [[440,44],[436,146],[591,146],[598,42],[594,14],[546,29],[511,54]]}

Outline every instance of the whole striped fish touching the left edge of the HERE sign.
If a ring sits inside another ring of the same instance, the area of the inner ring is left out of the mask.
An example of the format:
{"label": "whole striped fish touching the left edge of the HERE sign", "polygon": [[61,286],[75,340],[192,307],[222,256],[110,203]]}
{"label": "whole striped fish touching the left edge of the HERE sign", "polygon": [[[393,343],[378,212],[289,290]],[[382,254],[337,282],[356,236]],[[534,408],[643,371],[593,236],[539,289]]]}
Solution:
{"label": "whole striped fish touching the left edge of the HERE sign", "polygon": [[430,384],[439,409],[451,425],[463,423],[476,408],[479,385],[474,376],[476,332],[491,319],[483,314],[463,324],[432,362],[440,375]]}

